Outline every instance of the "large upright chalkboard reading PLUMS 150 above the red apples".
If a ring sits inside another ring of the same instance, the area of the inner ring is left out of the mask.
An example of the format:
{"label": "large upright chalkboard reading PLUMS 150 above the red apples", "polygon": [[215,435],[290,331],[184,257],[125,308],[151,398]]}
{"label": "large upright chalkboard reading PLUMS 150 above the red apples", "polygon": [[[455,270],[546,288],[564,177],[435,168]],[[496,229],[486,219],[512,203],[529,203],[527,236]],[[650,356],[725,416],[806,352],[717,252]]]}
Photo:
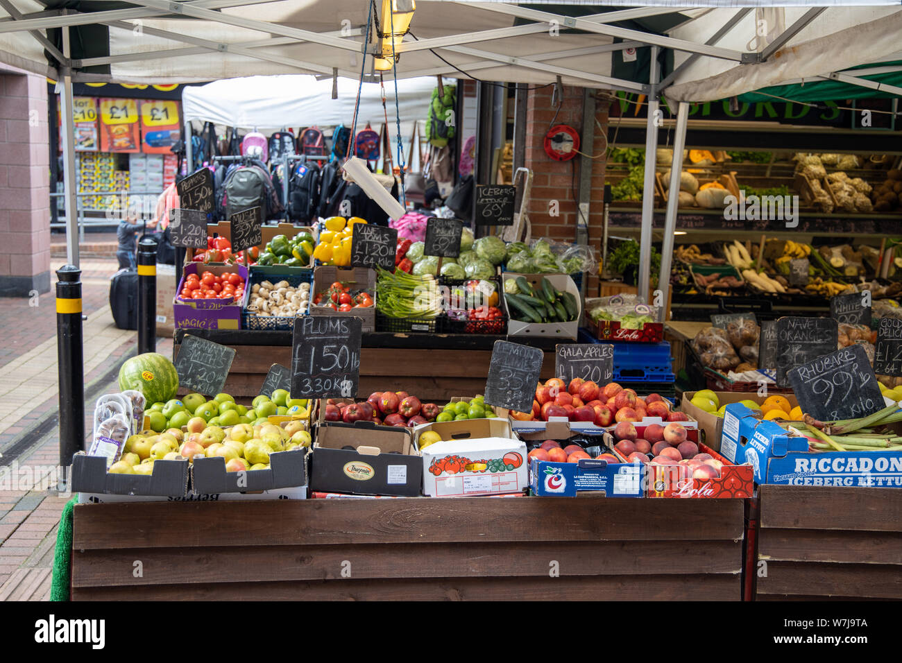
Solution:
{"label": "large upright chalkboard reading PLUMS 150 above the red apples", "polygon": [[291,398],[357,395],[363,322],[351,316],[295,318]]}

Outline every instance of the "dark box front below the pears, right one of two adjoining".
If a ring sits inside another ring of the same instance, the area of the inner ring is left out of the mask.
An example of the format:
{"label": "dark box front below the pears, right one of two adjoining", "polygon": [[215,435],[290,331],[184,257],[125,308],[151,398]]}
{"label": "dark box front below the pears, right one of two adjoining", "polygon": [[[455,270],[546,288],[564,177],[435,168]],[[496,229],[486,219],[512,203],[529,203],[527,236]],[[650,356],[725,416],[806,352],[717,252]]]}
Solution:
{"label": "dark box front below the pears, right one of two adjoining", "polygon": [[246,493],[307,485],[307,449],[277,451],[270,455],[270,469],[226,472],[221,456],[195,458],[191,466],[191,490],[195,493]]}

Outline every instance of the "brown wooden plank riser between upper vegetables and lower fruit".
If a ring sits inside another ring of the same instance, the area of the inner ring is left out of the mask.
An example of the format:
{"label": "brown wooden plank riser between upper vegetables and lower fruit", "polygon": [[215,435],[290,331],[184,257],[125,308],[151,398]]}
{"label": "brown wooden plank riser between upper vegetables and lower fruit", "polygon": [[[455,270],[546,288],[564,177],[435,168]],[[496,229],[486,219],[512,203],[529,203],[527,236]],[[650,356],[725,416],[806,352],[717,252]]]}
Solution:
{"label": "brown wooden plank riser between upper vegetables and lower fruit", "polygon": [[[272,364],[291,365],[290,331],[178,329],[173,360],[185,334],[235,349],[224,390],[235,398],[253,399]],[[364,334],[357,395],[365,399],[373,391],[403,390],[420,400],[448,401],[453,396],[483,393],[492,345],[499,340],[544,350],[543,379],[554,377],[555,345],[575,343],[569,339],[479,334]]]}

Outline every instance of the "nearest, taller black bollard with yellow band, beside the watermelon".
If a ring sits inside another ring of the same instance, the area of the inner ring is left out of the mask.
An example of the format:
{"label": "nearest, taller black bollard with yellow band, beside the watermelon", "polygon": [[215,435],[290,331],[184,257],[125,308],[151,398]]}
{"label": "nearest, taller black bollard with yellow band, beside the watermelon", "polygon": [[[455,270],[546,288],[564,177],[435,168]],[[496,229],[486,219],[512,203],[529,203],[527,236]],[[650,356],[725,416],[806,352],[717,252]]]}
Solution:
{"label": "nearest, taller black bollard with yellow band, beside the watermelon", "polygon": [[[57,350],[60,373],[60,466],[85,444],[85,361],[81,332],[81,270],[57,270]],[[61,486],[60,486],[61,488]]]}

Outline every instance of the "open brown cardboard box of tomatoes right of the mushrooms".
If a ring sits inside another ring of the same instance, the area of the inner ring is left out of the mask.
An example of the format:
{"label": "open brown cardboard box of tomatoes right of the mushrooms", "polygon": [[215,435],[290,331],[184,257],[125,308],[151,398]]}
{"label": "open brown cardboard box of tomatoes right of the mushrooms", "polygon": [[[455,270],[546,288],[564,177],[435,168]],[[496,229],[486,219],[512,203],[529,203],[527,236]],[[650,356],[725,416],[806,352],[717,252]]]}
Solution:
{"label": "open brown cardboard box of tomatoes right of the mushrooms", "polygon": [[[354,316],[364,321],[364,334],[375,331],[376,272],[373,270],[365,267],[344,270],[332,265],[319,266],[313,271],[313,288],[310,293],[311,316]],[[333,294],[336,295],[335,300],[332,299]],[[342,301],[343,294],[346,295],[345,301]],[[346,306],[344,309],[343,304]]]}

